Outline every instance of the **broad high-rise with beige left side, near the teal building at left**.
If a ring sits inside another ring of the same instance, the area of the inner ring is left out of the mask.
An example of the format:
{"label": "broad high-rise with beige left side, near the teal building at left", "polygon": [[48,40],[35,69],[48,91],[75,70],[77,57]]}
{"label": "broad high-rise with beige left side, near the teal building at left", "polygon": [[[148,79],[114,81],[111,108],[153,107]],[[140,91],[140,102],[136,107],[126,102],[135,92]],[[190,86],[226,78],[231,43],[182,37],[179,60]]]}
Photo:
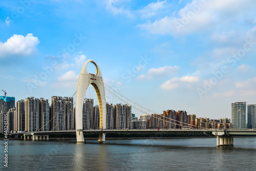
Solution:
{"label": "broad high-rise with beige left side, near the teal building at left", "polygon": [[28,97],[25,99],[25,131],[39,130],[39,99]]}

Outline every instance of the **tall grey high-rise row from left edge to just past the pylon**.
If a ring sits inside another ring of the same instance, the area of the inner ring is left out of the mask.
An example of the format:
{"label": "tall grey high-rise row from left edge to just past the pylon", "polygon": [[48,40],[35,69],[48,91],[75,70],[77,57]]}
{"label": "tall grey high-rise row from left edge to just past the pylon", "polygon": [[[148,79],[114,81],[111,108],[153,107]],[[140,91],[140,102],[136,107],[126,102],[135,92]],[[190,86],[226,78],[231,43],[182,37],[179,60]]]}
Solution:
{"label": "tall grey high-rise row from left edge to just past the pylon", "polygon": [[[66,131],[75,130],[73,97],[52,96],[48,99],[28,97],[18,100],[0,96],[0,132],[4,133],[4,115],[8,114],[8,132],[11,131]],[[83,130],[100,129],[99,105],[93,99],[84,99]],[[132,129],[132,106],[106,103],[106,129]]]}

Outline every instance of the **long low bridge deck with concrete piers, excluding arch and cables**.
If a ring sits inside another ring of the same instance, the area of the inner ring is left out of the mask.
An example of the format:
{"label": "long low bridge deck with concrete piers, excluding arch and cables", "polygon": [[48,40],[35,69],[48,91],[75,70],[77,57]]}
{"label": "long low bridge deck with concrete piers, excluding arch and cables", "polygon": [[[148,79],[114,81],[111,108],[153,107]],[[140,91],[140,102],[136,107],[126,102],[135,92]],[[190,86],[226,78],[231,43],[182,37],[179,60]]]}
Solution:
{"label": "long low bridge deck with concrete piers, excluding arch and cables", "polygon": [[[230,130],[210,130],[210,129],[144,129],[144,130],[82,130],[83,133],[91,134],[206,134],[215,135],[217,137],[217,146],[233,145],[234,135],[256,135],[256,129],[230,129]],[[14,135],[21,135],[24,140],[49,140],[50,134],[75,134],[75,130],[69,131],[41,131],[41,132],[24,132],[24,133],[13,133]],[[99,137],[98,141],[101,141],[102,137]]]}

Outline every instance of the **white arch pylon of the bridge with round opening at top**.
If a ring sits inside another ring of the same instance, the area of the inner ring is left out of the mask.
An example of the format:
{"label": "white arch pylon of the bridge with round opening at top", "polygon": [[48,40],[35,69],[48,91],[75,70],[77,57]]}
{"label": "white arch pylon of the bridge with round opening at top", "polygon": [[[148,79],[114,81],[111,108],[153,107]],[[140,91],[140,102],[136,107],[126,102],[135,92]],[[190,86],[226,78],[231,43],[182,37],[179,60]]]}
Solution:
{"label": "white arch pylon of the bridge with round opening at top", "polygon": [[[96,74],[91,74],[87,72],[87,65],[92,62],[96,67]],[[75,109],[75,120],[76,120],[76,141],[84,142],[83,138],[83,125],[82,125],[82,107],[84,96],[86,95],[87,88],[92,84],[94,87],[98,101],[99,101],[99,112],[100,112],[100,129],[105,129],[106,127],[106,100],[105,100],[105,89],[103,84],[98,84],[102,81],[102,75],[99,70],[97,63],[89,59],[87,60],[80,72],[77,89],[76,89],[76,109]],[[99,142],[105,141],[105,134],[99,135]]]}

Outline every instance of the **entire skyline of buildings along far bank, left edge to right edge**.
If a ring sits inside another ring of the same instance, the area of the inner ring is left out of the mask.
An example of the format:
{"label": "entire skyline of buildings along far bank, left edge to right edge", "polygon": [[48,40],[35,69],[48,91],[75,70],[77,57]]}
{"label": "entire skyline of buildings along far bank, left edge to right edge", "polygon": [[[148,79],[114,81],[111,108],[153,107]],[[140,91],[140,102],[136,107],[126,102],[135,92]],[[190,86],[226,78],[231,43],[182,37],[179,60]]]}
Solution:
{"label": "entire skyline of buildings along far bank, left edge to right edge", "polygon": [[[15,107],[16,104],[16,107]],[[0,132],[4,133],[4,116],[8,116],[8,131],[75,130],[73,97],[52,96],[48,99],[28,97],[15,103],[14,97],[0,96]],[[128,104],[106,103],[106,129],[256,129],[256,104],[231,104],[230,119],[209,119],[188,115],[186,111],[166,110],[163,114],[132,114]],[[83,130],[100,129],[99,105],[86,98],[82,109]]]}

